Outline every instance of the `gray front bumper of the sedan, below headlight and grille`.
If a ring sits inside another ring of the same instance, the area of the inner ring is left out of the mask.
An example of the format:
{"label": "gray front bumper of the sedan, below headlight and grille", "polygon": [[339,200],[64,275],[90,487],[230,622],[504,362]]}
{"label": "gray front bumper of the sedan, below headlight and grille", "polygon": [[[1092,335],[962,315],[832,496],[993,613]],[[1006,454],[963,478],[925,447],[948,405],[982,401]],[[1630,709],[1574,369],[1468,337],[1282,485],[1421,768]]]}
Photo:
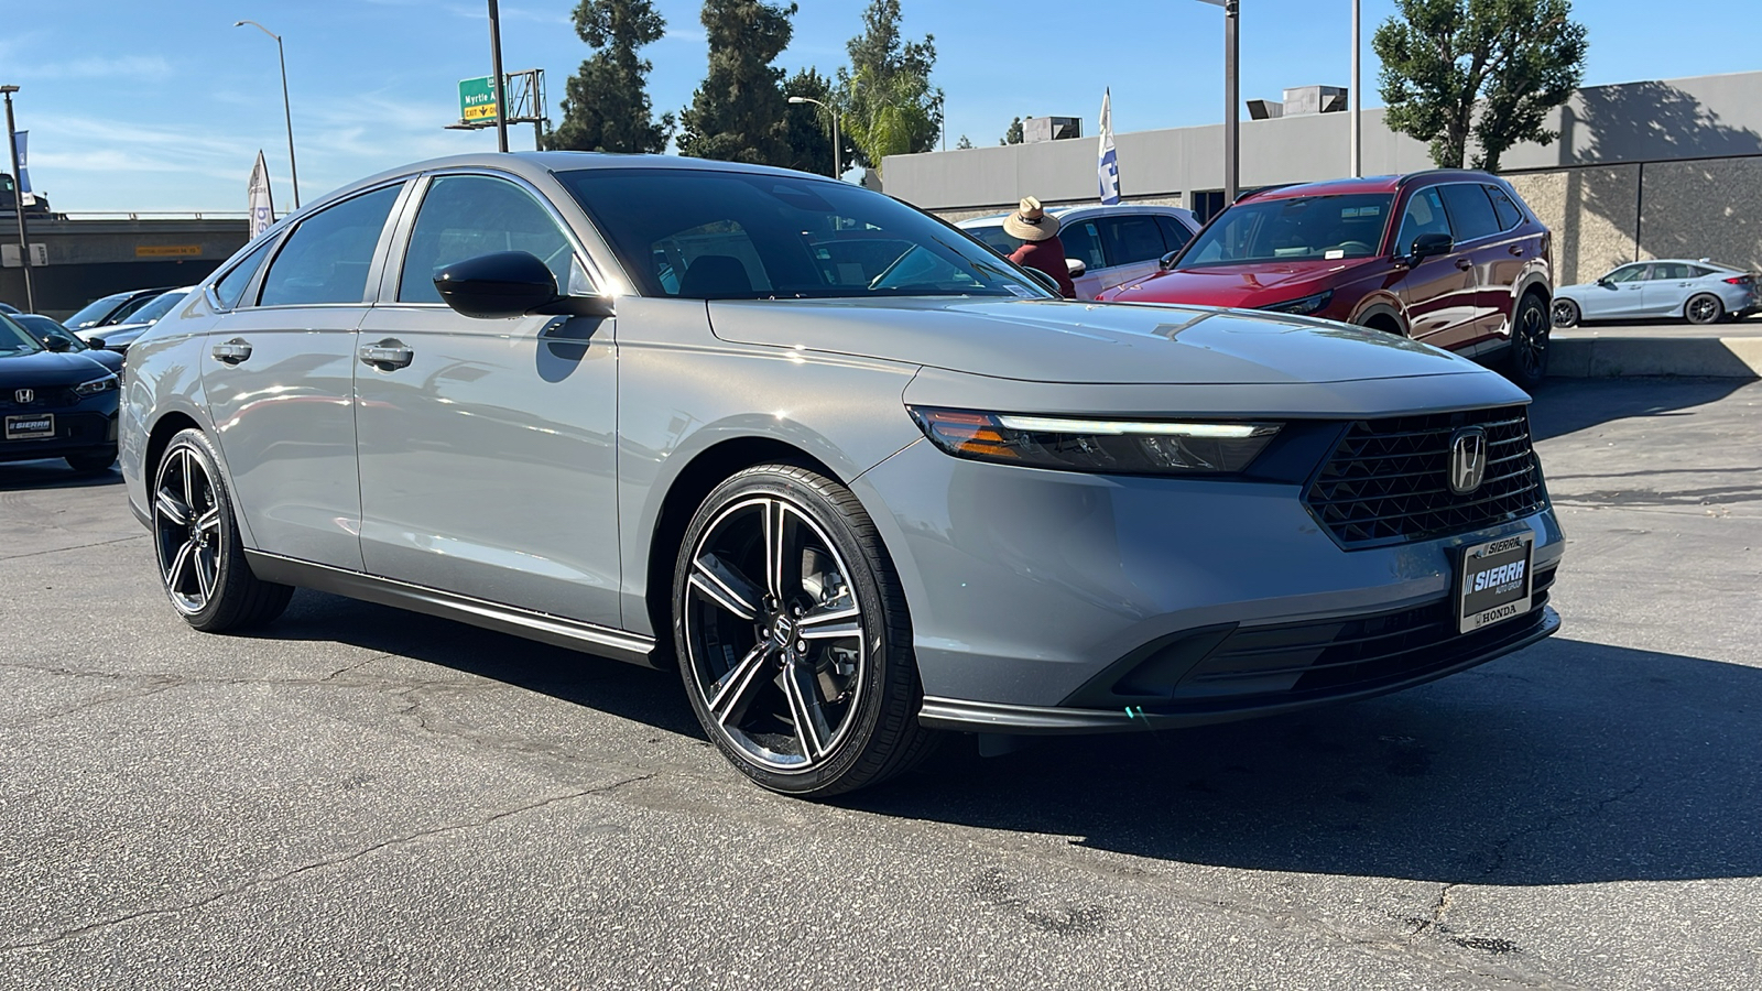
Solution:
{"label": "gray front bumper of the sedan, below headlight and grille", "polygon": [[1351,638],[1348,624],[1359,638],[1385,637],[1374,624],[1396,622],[1388,617],[1417,628],[1425,610],[1448,608],[1464,545],[1529,531],[1540,591],[1563,550],[1552,510],[1343,550],[1295,485],[1004,467],[929,443],[855,488],[899,564],[923,679],[920,719],[934,726],[1105,732],[1270,714],[1443,677],[1559,624],[1538,594],[1526,617],[1473,644],[1403,633],[1396,645],[1418,647],[1411,663],[1376,656],[1353,677],[1316,677],[1295,670],[1302,663],[1267,661],[1253,677],[1223,677],[1207,665],[1256,652],[1244,644],[1295,637],[1260,654],[1306,656],[1295,642],[1316,647],[1307,656],[1325,667],[1322,647]]}

